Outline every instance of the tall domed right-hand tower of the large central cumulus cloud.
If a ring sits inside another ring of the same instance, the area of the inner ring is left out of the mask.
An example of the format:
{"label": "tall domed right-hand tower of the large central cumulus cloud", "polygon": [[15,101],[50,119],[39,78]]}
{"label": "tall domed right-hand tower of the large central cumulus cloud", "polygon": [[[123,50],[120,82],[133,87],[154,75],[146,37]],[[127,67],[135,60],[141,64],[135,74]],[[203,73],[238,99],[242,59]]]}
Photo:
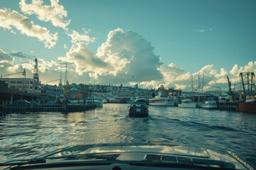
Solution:
{"label": "tall domed right-hand tower of the large central cumulus cloud", "polygon": [[[117,28],[107,35],[107,42],[97,49],[97,56],[119,67],[114,74],[125,81],[132,75],[132,81],[151,81],[162,79],[158,68],[161,66],[159,56],[154,54],[154,47],[141,35],[131,30]],[[125,64],[120,63],[125,61]],[[127,76],[125,76],[125,75]]]}

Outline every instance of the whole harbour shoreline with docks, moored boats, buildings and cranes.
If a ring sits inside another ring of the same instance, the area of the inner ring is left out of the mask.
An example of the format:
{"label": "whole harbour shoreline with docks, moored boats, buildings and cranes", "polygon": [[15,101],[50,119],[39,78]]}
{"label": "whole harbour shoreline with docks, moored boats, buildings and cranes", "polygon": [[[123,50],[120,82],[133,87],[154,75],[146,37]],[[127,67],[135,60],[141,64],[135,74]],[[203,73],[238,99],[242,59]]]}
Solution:
{"label": "whole harbour shoreline with docks, moored boats, buildings and cranes", "polygon": [[[67,65],[66,65],[67,72]],[[165,89],[161,85],[155,90],[138,89],[137,86],[113,88],[107,86],[102,93],[99,89],[88,90],[81,89],[78,86],[70,86],[65,74],[65,84],[61,79],[57,79],[59,86],[53,91],[49,91],[48,84],[41,84],[38,75],[38,61],[35,59],[33,79],[26,78],[25,69],[23,78],[2,78],[9,75],[1,75],[0,81],[0,112],[2,113],[20,113],[20,112],[41,112],[41,111],[62,111],[77,112],[87,111],[96,107],[102,107],[103,103],[132,103],[134,101],[144,102],[149,106],[178,106],[182,108],[216,108],[220,111],[235,111],[245,113],[256,113],[256,89],[254,72],[241,72],[240,91],[233,91],[229,77],[229,91],[220,91],[215,94],[206,94],[206,91],[181,91],[173,88]],[[191,76],[192,82],[193,77]],[[198,77],[200,80],[200,77]],[[54,80],[56,81],[56,80]],[[50,81],[48,81],[50,82]],[[84,85],[85,86],[85,85]],[[98,86],[98,85],[95,85]],[[200,86],[200,83],[198,83]],[[78,87],[78,88],[77,88]],[[98,92],[95,92],[98,91]],[[139,96],[139,92],[141,95]],[[114,95],[112,95],[115,94]],[[122,94],[122,96],[120,95]],[[120,96],[118,96],[120,95]],[[39,106],[15,106],[13,103],[17,100],[26,100],[30,103],[38,101]],[[41,105],[47,101],[58,103],[53,106]],[[105,102],[104,102],[105,101]]]}

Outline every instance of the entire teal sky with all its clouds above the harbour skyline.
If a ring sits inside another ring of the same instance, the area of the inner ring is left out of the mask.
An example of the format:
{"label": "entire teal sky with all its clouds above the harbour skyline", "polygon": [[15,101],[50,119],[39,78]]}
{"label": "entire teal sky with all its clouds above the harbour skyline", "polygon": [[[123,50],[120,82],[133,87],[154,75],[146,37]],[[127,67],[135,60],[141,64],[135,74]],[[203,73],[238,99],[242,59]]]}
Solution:
{"label": "entire teal sky with all its clouds above the harbour skyline", "polygon": [[67,63],[69,83],[210,91],[228,89],[230,77],[238,89],[240,72],[256,71],[255,8],[254,0],[1,0],[0,72],[32,78],[37,58],[42,83],[64,81]]}

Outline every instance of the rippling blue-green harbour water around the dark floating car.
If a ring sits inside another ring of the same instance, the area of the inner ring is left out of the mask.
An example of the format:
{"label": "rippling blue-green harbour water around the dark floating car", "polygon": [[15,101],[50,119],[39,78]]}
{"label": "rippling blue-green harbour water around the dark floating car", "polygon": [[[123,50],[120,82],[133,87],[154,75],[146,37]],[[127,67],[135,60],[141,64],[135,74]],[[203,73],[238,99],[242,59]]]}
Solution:
{"label": "rippling blue-green harbour water around the dark floating car", "polygon": [[0,115],[0,162],[73,145],[150,140],[221,147],[256,165],[256,115],[149,106],[149,118],[129,118],[127,106],[108,103],[85,113]]}

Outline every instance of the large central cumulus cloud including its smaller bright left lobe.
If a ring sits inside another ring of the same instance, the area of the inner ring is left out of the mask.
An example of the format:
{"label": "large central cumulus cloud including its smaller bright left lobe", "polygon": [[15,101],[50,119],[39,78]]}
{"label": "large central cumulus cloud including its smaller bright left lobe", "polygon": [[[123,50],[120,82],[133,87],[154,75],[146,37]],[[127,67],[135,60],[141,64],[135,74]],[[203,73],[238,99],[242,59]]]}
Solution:
{"label": "large central cumulus cloud including its smaller bright left lobe", "polygon": [[120,84],[162,79],[159,57],[141,35],[117,28],[106,42],[91,52],[85,42],[76,42],[65,57],[58,60],[74,64],[79,75],[89,74],[99,84]]}

